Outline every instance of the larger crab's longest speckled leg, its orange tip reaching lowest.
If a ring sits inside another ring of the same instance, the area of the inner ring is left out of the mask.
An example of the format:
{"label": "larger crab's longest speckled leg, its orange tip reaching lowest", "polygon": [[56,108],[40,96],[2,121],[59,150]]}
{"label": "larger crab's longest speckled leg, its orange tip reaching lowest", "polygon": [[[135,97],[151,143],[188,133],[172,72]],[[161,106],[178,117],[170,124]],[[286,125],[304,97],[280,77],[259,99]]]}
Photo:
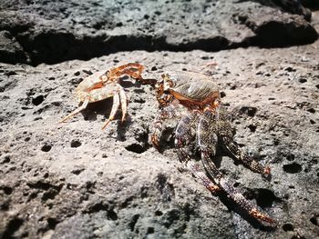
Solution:
{"label": "larger crab's longest speckled leg, its orange tip reaching lowest", "polygon": [[211,130],[211,124],[216,124],[216,120],[214,119],[215,115],[213,115],[211,111],[206,111],[201,116],[197,130],[198,144],[201,148],[201,160],[206,171],[210,174],[211,178],[214,179],[215,183],[218,184],[236,204],[248,212],[248,214],[264,222],[274,223],[273,218],[259,212],[257,208],[223,177],[216,165],[211,162],[211,155],[215,155],[217,144],[217,126],[215,126],[214,130]]}

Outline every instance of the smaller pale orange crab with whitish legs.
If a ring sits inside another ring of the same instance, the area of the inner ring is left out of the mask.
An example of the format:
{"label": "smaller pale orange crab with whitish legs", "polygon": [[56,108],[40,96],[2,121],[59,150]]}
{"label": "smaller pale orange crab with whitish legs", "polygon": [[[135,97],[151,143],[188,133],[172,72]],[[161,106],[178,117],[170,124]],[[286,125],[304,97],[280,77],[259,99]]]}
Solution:
{"label": "smaller pale orange crab with whitish legs", "polygon": [[113,97],[113,105],[108,120],[103,124],[104,130],[108,124],[114,119],[118,112],[119,105],[122,110],[122,122],[125,120],[128,108],[128,96],[125,94],[123,87],[120,85],[120,77],[129,75],[131,78],[139,81],[141,84],[151,84],[148,80],[143,79],[141,73],[144,69],[143,65],[138,63],[129,63],[111,68],[108,71],[100,71],[93,75],[87,76],[75,91],[77,102],[82,103],[75,111],[64,117],[59,123],[67,121],[74,115],[84,110],[88,103],[98,102],[108,97]]}

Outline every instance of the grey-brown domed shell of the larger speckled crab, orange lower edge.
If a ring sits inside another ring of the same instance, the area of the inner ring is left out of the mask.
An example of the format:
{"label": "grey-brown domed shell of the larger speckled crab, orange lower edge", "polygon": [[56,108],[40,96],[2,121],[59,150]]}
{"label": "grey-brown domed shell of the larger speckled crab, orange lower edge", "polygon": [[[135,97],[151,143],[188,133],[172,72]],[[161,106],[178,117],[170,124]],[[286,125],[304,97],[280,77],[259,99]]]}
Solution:
{"label": "grey-brown domed shell of the larger speckled crab, orange lower edge", "polygon": [[193,72],[168,72],[162,75],[164,91],[180,100],[204,103],[220,98],[218,85],[211,77]]}

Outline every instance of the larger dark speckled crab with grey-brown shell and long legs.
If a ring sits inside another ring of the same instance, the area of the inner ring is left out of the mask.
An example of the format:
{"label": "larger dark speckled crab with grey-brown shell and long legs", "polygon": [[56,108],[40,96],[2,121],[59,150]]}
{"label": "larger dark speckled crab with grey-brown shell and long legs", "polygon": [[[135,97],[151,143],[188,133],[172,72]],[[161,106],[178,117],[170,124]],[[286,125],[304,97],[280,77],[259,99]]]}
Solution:
{"label": "larger dark speckled crab with grey-brown shell and long legs", "polygon": [[[233,141],[229,114],[221,105],[218,85],[211,81],[211,77],[191,72],[163,74],[157,85],[157,99],[160,104],[160,115],[154,122],[152,144],[156,148],[160,147],[160,134],[165,120],[179,118],[174,144],[180,162],[211,193],[223,191],[253,218],[273,224],[273,218],[260,212],[234,188],[233,183],[221,174],[211,160],[216,154],[217,145],[222,144],[233,158],[253,172],[266,176],[271,173],[268,166],[258,163],[242,152],[238,144]],[[189,149],[190,144],[194,143],[201,152],[201,162],[207,174],[201,170],[199,164],[191,161]]]}

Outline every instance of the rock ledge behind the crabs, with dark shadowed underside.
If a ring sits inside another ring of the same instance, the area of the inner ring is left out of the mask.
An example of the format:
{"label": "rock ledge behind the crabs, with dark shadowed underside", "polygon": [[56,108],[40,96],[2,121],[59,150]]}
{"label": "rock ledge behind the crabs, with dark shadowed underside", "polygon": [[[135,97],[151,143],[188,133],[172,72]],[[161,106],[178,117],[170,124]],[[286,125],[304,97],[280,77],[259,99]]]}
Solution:
{"label": "rock ledge behind the crabs, with dark shadowed underside", "polygon": [[1,55],[5,63],[54,64],[130,50],[300,45],[318,37],[306,21],[311,12],[296,0],[0,2],[0,31],[24,51],[18,58]]}

